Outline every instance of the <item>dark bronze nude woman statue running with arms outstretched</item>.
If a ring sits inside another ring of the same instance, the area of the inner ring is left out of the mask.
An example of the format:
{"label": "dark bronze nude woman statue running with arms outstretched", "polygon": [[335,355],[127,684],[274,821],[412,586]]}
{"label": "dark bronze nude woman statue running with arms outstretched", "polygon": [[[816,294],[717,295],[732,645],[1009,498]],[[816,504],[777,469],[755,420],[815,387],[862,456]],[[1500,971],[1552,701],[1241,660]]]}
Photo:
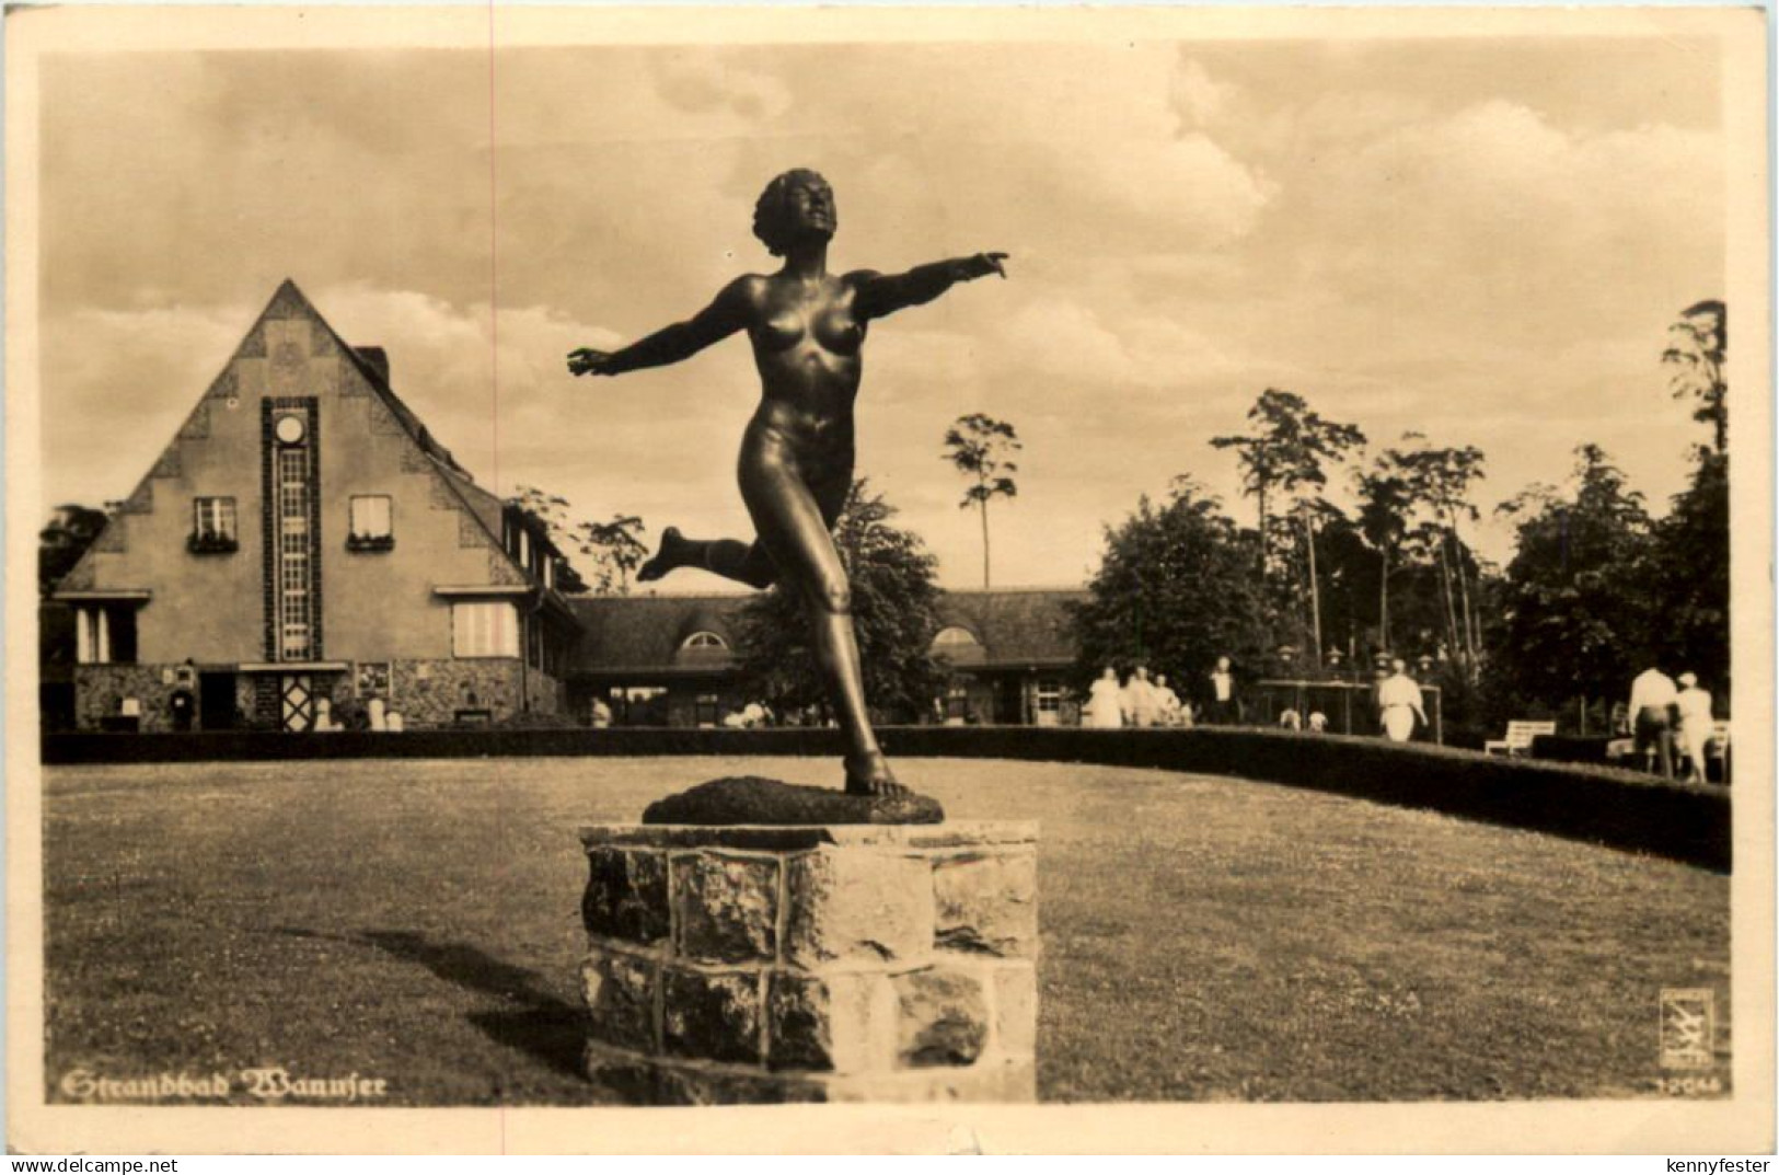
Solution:
{"label": "dark bronze nude woman statue running with arms outstretched", "polygon": [[696,566],[754,588],[793,586],[815,628],[815,655],[847,741],[845,790],[900,796],[865,710],[852,593],[829,531],[852,486],[852,401],[863,374],[865,333],[873,319],[930,303],[957,281],[1007,276],[1005,253],[977,253],[918,265],[906,274],[868,269],[827,272],[836,228],[834,192],[813,171],[772,180],[754,205],[754,235],[774,256],[776,274],[745,274],[710,306],[619,351],[582,347],[568,356],[576,376],[621,376],[664,367],[745,329],[760,369],[761,399],[747,431],[737,477],[758,539],[688,539],[662,532],[662,548],[637,573],[655,580]]}

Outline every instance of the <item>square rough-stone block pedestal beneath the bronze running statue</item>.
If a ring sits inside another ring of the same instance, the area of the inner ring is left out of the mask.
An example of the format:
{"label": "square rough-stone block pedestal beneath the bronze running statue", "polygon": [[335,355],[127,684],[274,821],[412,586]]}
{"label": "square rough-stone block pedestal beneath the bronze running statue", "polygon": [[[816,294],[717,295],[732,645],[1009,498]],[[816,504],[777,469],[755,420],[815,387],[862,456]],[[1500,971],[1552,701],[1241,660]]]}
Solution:
{"label": "square rough-stone block pedestal beneath the bronze running statue", "polygon": [[648,1106],[1035,1100],[1035,824],[582,842],[596,1084]]}

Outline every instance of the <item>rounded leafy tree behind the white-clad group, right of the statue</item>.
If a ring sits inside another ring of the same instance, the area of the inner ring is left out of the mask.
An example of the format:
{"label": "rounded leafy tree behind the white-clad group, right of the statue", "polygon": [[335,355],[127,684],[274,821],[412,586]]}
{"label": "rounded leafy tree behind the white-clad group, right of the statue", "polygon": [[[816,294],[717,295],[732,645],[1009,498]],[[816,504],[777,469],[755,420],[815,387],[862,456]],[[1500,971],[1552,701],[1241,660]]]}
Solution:
{"label": "rounded leafy tree behind the white-clad group, right of the statue", "polygon": [[1075,609],[1082,682],[1108,664],[1144,662],[1190,680],[1217,657],[1261,662],[1260,536],[1240,531],[1199,482],[1176,477],[1162,506],[1144,495],[1105,541],[1089,598]]}

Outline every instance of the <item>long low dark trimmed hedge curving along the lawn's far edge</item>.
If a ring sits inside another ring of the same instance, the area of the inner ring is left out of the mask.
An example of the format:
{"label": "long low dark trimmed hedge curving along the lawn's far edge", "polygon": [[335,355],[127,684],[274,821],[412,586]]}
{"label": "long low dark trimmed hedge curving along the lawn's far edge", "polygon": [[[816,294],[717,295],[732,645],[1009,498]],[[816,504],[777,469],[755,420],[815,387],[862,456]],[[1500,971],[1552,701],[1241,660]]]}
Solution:
{"label": "long low dark trimmed hedge curving along the lawn's far edge", "polygon": [[[1727,789],[1669,783],[1612,767],[1231,726],[891,726],[881,737],[884,750],[904,757],[1091,762],[1265,780],[1729,869]],[[836,732],[797,728],[59,733],[44,741],[44,762],[838,755],[840,750]]]}

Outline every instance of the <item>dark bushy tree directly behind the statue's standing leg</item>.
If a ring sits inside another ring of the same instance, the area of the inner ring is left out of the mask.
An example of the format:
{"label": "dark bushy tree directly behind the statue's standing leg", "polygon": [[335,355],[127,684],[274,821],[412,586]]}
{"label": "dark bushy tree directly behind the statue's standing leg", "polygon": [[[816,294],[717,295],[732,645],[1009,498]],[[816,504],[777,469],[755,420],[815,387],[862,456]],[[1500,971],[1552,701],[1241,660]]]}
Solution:
{"label": "dark bushy tree directly behind the statue's standing leg", "polygon": [[[865,698],[873,716],[913,721],[927,714],[945,685],[932,657],[939,630],[939,586],[934,559],[913,531],[890,520],[897,509],[852,482],[834,547],[852,584],[852,623],[865,668]],[[745,687],[777,709],[827,705],[817,673],[802,600],[776,586],[756,595],[737,621]]]}

